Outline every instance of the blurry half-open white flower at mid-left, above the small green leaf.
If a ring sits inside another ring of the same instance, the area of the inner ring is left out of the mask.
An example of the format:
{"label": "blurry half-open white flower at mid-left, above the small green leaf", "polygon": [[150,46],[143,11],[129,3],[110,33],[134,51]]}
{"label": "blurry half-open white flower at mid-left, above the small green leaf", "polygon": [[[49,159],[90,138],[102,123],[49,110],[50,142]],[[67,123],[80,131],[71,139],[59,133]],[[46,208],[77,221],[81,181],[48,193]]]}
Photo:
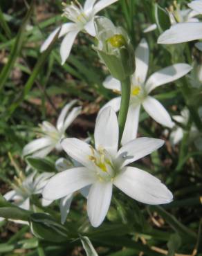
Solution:
{"label": "blurry half-open white flower at mid-left, above the small green leaf", "polygon": [[33,156],[44,157],[47,156],[54,148],[58,151],[62,150],[60,140],[65,137],[66,129],[81,113],[81,107],[74,107],[70,111],[75,102],[77,102],[77,100],[72,100],[62,109],[57,119],[56,127],[50,124],[50,122],[42,122],[42,138],[37,138],[36,140],[28,143],[23,149],[24,156],[32,154]]}

